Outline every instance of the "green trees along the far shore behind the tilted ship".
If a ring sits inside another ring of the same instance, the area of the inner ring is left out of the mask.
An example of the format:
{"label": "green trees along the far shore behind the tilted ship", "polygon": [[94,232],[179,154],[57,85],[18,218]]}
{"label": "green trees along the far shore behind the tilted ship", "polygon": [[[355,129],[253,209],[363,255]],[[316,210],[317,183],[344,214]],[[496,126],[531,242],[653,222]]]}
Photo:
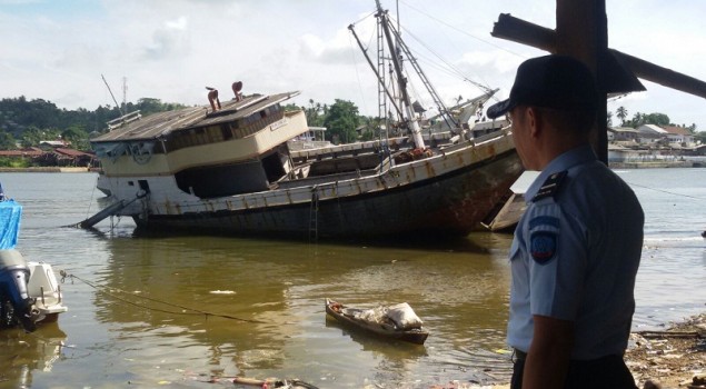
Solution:
{"label": "green trees along the far shore behind the tilted ship", "polygon": [[[187,106],[162,102],[159,99],[142,98],[137,103],[128,102],[122,107],[99,106],[89,111],[59,109],[54,103],[43,100],[6,98],[0,100],[0,150],[13,150],[18,147],[38,147],[41,141],[62,139],[71,143],[71,148],[90,151],[89,139],[107,131],[106,123],[122,113],[139,110],[145,117],[155,112],[169,111]],[[307,106],[288,104],[285,109],[302,110],[311,127],[326,127],[326,139],[334,143],[347,143],[357,140],[371,140],[379,136],[380,122],[385,119],[360,114],[358,107],[351,101],[336,99],[332,104],[309,100]],[[613,126],[613,112],[608,112],[608,126]],[[637,112],[628,119],[624,107],[616,110],[620,126],[638,128],[643,124],[675,126],[664,113]],[[394,122],[395,120],[391,120]],[[687,128],[692,133],[706,142],[706,132],[696,132],[696,124]],[[390,134],[399,134],[390,128]]]}

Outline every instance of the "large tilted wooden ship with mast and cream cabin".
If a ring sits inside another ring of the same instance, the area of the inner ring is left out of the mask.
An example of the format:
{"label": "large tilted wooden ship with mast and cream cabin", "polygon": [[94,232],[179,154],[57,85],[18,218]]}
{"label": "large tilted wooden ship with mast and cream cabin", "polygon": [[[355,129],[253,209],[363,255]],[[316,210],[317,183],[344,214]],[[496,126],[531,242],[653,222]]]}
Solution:
{"label": "large tilted wooden ship with mast and cream cabin", "polygon": [[[398,40],[386,12],[378,13]],[[132,114],[91,139],[103,172],[99,187],[113,205],[81,225],[117,215],[160,231],[465,236],[523,171],[503,122],[469,127],[446,114],[444,128],[425,130],[407,97],[394,103],[407,113],[396,123],[406,131],[399,137],[292,149],[289,141],[310,130],[304,111],[284,108],[298,92],[242,96],[241,82],[232,89],[232,100],[221,102],[210,90],[208,106]]]}

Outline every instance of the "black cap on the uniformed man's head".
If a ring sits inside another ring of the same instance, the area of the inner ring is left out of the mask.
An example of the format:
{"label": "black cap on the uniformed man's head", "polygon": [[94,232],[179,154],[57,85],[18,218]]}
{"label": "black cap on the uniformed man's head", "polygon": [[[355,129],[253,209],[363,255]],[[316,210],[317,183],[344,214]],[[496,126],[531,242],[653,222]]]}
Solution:
{"label": "black cap on the uniformed man's head", "polygon": [[523,62],[510,98],[490,106],[487,114],[495,119],[519,104],[595,112],[596,99],[596,82],[583,62],[550,54]]}

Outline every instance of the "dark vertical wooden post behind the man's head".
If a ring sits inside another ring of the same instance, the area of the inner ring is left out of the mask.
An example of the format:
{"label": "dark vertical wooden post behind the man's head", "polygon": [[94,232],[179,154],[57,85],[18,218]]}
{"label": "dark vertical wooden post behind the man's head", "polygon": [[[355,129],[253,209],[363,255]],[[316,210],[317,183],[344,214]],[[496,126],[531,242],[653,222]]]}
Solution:
{"label": "dark vertical wooden post behind the man's head", "polygon": [[598,87],[598,112],[591,143],[598,158],[608,163],[605,58],[608,53],[608,17],[605,0],[557,0],[557,53],[581,60],[594,72]]}

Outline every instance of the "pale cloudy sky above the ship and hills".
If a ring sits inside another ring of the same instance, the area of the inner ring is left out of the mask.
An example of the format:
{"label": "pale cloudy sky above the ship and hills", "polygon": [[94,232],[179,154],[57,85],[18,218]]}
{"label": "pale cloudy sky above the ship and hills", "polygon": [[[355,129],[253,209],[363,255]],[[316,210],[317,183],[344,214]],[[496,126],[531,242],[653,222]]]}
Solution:
{"label": "pale cloudy sky above the ship and hills", "polygon": [[[611,48],[706,80],[706,1],[606,3]],[[382,7],[396,16],[395,1]],[[555,7],[556,0],[400,0],[399,17],[408,46],[450,104],[480,94],[463,77],[506,98],[517,66],[544,52],[490,37],[494,22],[511,13],[554,29]],[[348,26],[375,43],[374,10],[374,0],[0,0],[0,98],[113,106],[102,74],[119,102],[125,92],[132,102],[206,104],[206,86],[225,100],[241,80],[246,94],[299,90],[297,104],[342,99],[372,116],[377,87]],[[643,83],[646,92],[611,100],[608,110],[666,113],[706,131],[706,100]]]}

